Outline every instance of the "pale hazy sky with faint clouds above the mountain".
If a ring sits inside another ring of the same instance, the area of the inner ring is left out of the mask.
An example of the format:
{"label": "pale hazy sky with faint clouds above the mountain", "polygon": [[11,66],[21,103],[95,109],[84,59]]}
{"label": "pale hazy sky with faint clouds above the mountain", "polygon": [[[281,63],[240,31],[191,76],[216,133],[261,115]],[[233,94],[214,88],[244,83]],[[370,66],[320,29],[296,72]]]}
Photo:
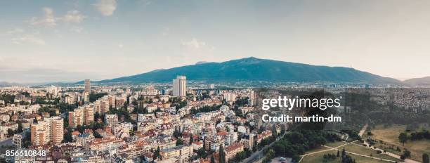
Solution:
{"label": "pale hazy sky with faint clouds above the mountain", "polygon": [[430,1],[1,1],[0,81],[266,58],[430,76]]}

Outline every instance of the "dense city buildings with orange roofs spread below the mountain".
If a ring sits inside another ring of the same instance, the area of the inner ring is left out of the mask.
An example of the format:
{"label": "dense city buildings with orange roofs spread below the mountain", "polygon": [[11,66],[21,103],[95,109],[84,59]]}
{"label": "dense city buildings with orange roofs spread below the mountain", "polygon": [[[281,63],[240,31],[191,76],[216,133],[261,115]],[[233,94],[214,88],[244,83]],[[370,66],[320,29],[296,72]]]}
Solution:
{"label": "dense city buildings with orange roofs spread below the mountain", "polygon": [[[286,126],[263,123],[256,107],[259,98],[280,91],[186,82],[178,76],[171,85],[96,85],[88,93],[91,100],[85,100],[86,82],[0,88],[0,138],[11,138],[13,148],[49,151],[53,157],[41,158],[54,162],[210,162],[212,157],[239,162],[285,133]],[[416,112],[430,105],[422,98],[429,90],[410,90],[351,89],[370,91],[376,103]]]}

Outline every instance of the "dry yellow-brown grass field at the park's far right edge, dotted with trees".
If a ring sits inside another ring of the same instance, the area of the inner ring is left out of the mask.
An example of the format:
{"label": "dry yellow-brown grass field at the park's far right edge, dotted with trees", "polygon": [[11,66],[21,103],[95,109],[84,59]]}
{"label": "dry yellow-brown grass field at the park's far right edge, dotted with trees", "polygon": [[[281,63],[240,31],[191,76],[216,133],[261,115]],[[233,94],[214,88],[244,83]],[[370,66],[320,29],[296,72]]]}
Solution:
{"label": "dry yellow-brown grass field at the park's far right edge, dotted with trees", "polygon": [[[406,148],[410,150],[412,159],[421,161],[422,153],[430,153],[430,141],[429,140],[421,140],[421,141],[408,141],[403,146],[403,143],[398,141],[398,135],[405,131],[405,125],[392,125],[384,128],[384,126],[376,126],[375,129],[372,129],[371,136],[374,140],[384,141],[383,143],[377,143],[375,146],[378,148],[383,146],[389,152],[393,152],[396,154],[403,153],[403,149]],[[395,149],[399,147],[402,152],[398,152]],[[394,150],[391,150],[393,148]]]}

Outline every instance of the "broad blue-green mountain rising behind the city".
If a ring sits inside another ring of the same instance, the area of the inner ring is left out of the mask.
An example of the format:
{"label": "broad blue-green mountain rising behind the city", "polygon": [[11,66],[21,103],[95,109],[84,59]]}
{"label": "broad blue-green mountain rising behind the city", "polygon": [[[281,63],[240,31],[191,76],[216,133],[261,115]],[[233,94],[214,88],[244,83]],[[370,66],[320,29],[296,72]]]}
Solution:
{"label": "broad blue-green mountain rising behind the city", "polygon": [[195,81],[333,81],[366,84],[398,84],[400,81],[381,77],[369,72],[363,72],[348,67],[328,67],[289,63],[278,60],[260,58],[242,58],[222,63],[201,63],[185,65],[166,70],[157,70],[136,74],[129,77],[119,77],[98,81],[111,82],[170,82],[177,75],[185,75],[188,80]]}

